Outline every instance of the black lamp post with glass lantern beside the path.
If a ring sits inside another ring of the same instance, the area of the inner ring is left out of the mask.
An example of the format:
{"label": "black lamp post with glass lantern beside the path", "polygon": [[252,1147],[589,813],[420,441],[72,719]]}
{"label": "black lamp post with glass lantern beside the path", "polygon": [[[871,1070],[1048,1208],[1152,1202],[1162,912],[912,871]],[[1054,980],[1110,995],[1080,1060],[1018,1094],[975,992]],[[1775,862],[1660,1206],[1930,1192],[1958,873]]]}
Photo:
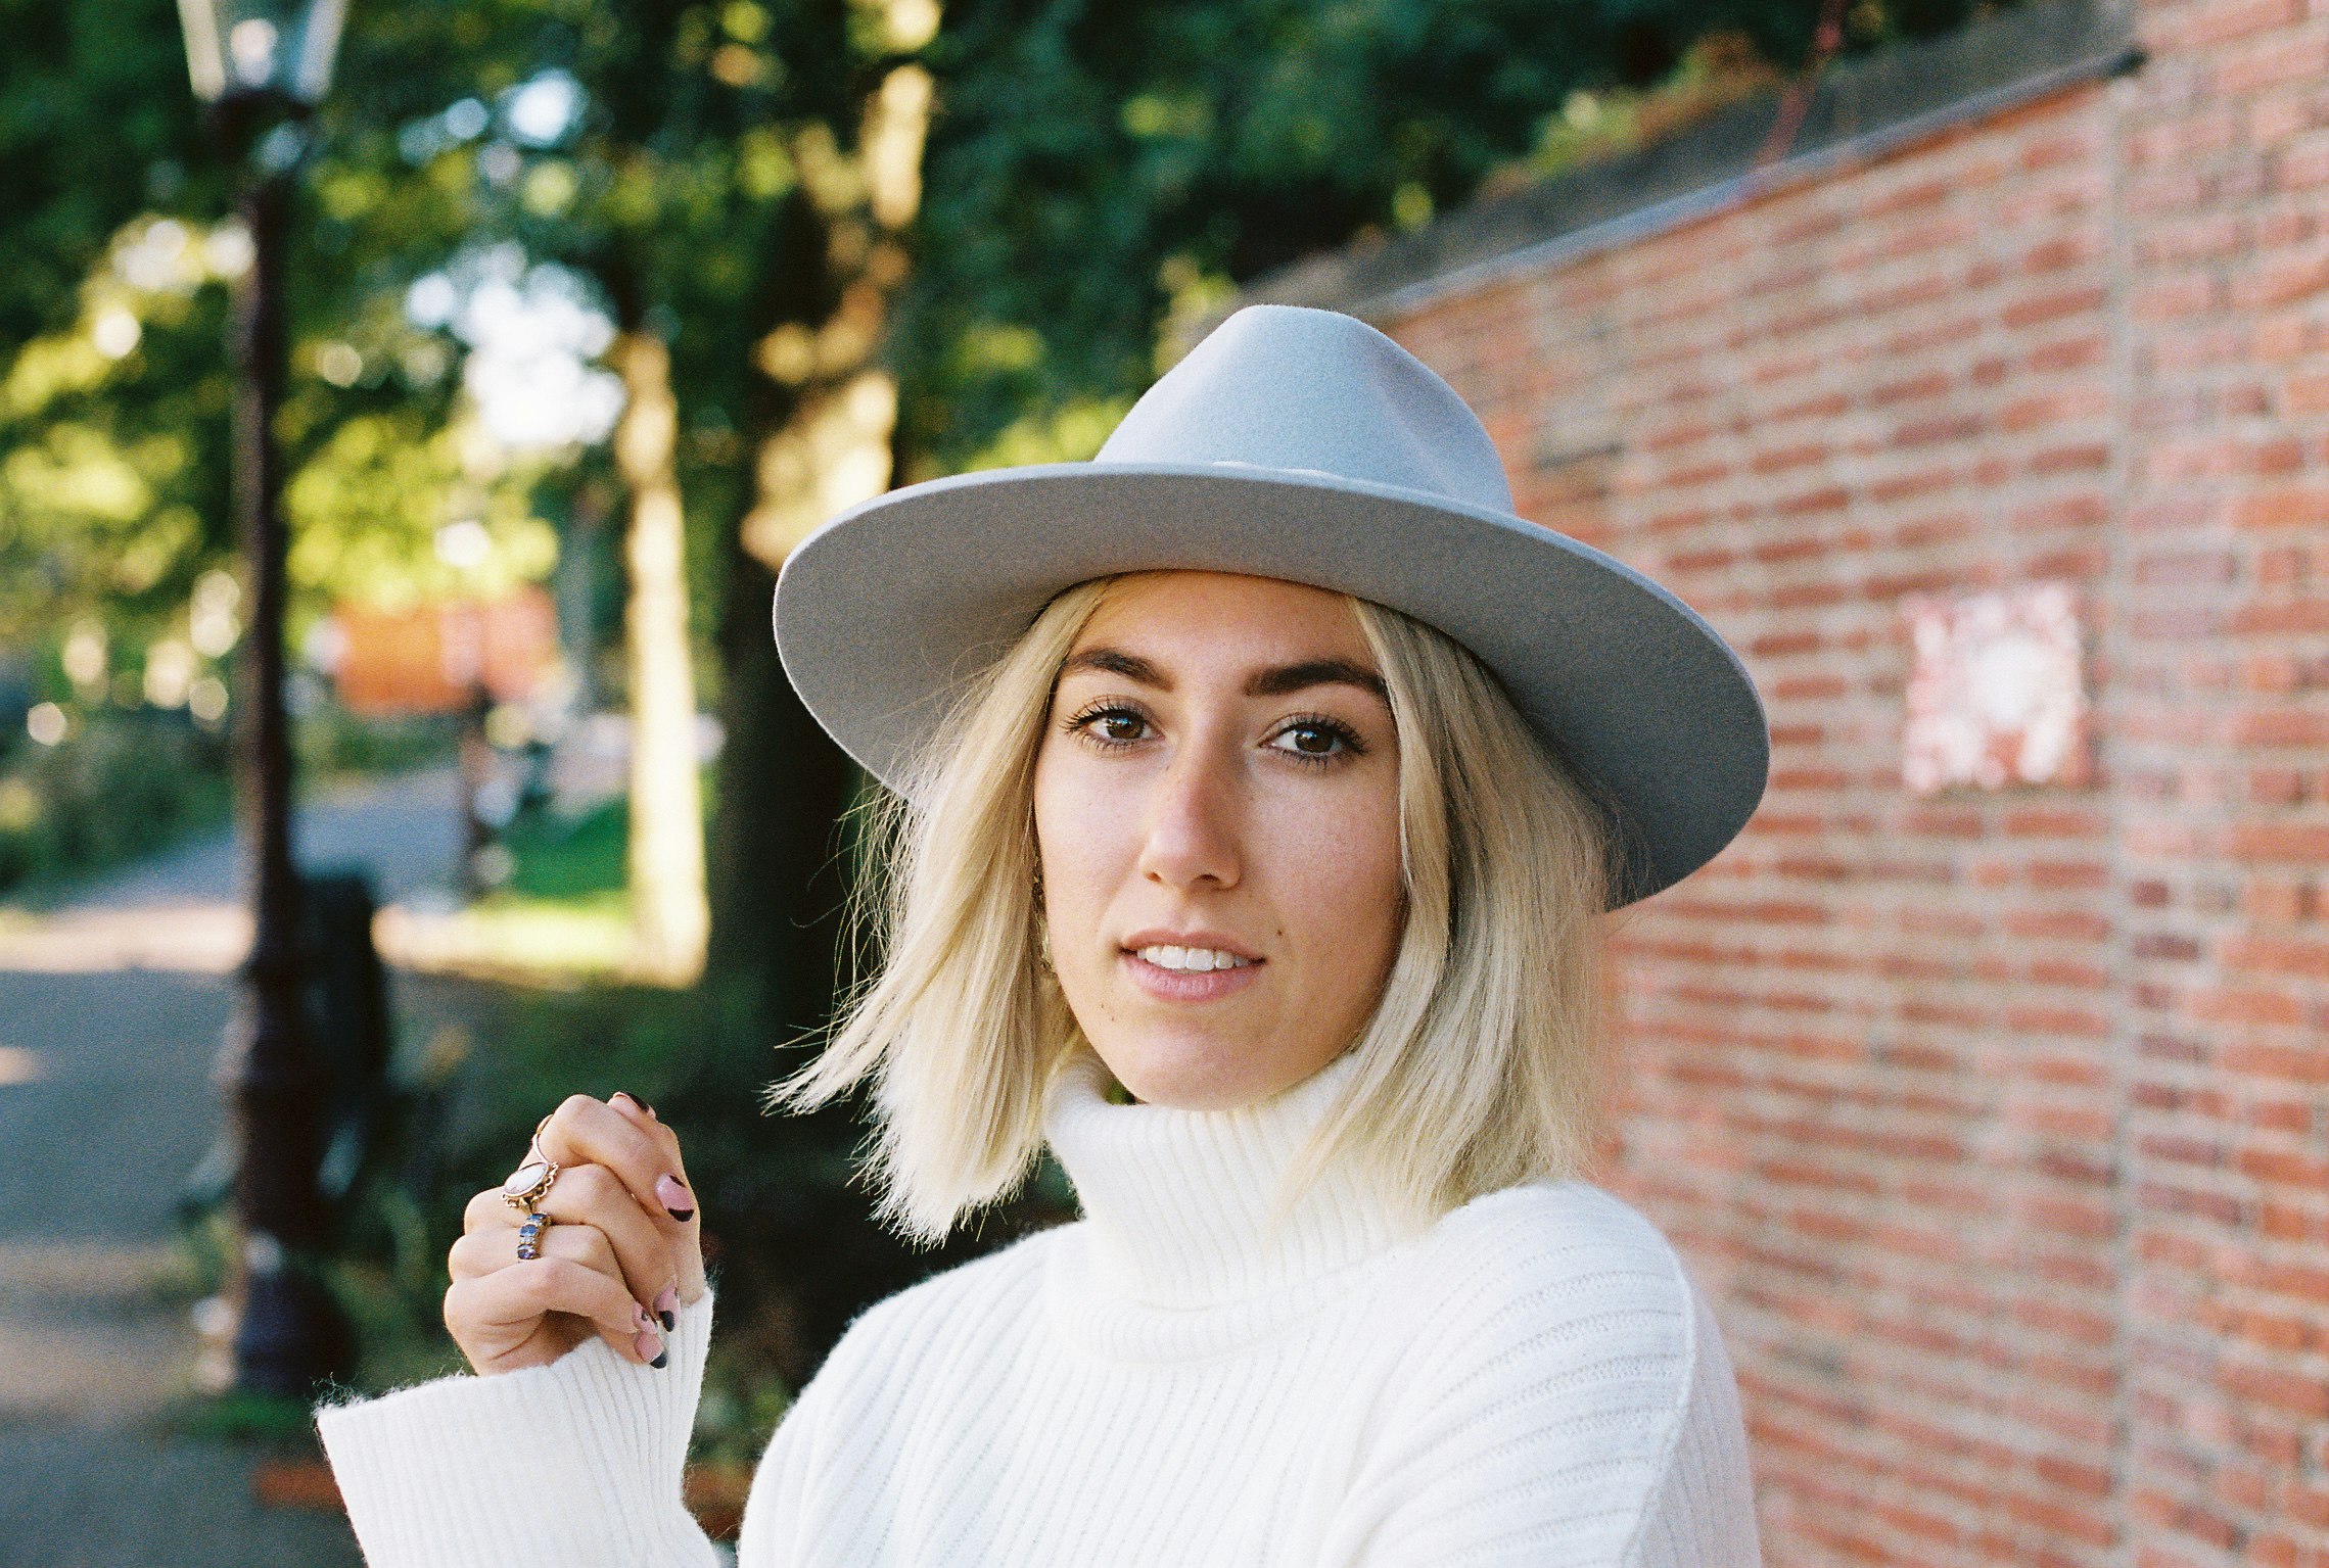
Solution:
{"label": "black lamp post with glass lantern beside the path", "polygon": [[235,514],[252,623],[235,703],[238,810],[249,854],[252,952],[219,1054],[240,1163],[242,1314],[235,1382],[305,1396],[347,1361],[347,1333],[314,1261],[324,1072],[300,991],[300,882],[291,861],[284,712],[284,519],[275,412],[284,395],[284,223],[305,123],[331,84],[347,0],[179,0],[186,74],[240,179],[252,265],[235,288]]}

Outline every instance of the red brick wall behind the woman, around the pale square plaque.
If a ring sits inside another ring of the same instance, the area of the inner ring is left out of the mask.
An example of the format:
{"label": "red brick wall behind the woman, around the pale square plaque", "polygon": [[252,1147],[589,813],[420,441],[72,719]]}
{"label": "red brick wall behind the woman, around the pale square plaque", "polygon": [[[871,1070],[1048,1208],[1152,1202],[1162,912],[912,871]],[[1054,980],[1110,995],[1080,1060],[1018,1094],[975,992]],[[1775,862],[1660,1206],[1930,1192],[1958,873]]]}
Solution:
{"label": "red brick wall behind the woman, around the pale square plaque", "polygon": [[[1770,707],[1749,828],[1628,912],[1605,1179],[1719,1303],[1775,1568],[2329,1566],[2329,7],[2133,30],[1698,221],[1311,295]],[[2040,579],[2089,779],[1912,793],[1903,598]]]}

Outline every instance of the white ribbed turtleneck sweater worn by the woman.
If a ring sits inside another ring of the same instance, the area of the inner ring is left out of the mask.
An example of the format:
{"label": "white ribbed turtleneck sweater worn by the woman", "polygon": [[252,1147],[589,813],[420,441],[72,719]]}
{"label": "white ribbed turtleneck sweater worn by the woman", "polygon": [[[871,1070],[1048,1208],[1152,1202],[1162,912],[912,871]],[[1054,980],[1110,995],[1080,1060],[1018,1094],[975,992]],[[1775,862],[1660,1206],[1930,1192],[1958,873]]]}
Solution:
{"label": "white ribbed turtleneck sweater worn by the woman", "polygon": [[[1397,1235],[1348,1170],[1265,1233],[1355,1059],[1260,1105],[1046,1105],[1083,1219],[873,1305],[785,1412],[738,1568],[1761,1563],[1705,1298],[1586,1182]],[[319,1405],[370,1568],[708,1568],[680,1503],[713,1293],[671,1363]]]}

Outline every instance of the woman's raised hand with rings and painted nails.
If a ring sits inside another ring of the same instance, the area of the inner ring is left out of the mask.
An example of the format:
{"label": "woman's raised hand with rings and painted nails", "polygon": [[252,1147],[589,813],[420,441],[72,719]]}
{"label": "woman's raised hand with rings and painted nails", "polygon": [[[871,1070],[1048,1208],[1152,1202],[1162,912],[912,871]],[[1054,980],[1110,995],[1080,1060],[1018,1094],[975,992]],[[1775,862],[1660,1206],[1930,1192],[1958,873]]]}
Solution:
{"label": "woman's raised hand with rings and painted nails", "polygon": [[498,1186],[470,1198],[447,1254],[445,1328],[480,1375],[545,1366],[594,1333],[657,1366],[666,1314],[703,1296],[703,1214],[680,1140],[617,1091],[568,1096],[533,1142],[559,1166],[533,1203],[552,1221],[540,1256],[517,1256],[524,1214]]}

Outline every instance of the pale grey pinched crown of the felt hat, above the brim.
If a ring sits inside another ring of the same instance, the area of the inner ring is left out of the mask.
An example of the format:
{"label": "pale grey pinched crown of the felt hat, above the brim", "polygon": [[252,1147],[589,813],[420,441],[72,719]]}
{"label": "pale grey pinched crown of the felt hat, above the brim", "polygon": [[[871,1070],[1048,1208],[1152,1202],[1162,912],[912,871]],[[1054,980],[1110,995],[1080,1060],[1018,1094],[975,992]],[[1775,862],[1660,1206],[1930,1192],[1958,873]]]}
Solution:
{"label": "pale grey pinched crown of the felt hat, above the brim", "polygon": [[1095,463],[1237,463],[1512,512],[1488,428],[1439,375],[1355,316],[1246,305],[1167,370]]}

